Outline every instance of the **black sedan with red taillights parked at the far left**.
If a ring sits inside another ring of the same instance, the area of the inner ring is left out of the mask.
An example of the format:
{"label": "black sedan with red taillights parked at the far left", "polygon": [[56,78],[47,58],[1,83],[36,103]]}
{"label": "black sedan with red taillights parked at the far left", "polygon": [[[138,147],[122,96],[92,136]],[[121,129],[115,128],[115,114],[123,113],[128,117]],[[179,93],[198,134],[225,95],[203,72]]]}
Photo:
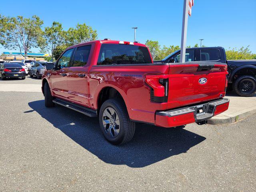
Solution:
{"label": "black sedan with red taillights parked at the far left", "polygon": [[6,78],[26,78],[26,71],[18,63],[3,63],[0,64],[0,78],[5,80]]}

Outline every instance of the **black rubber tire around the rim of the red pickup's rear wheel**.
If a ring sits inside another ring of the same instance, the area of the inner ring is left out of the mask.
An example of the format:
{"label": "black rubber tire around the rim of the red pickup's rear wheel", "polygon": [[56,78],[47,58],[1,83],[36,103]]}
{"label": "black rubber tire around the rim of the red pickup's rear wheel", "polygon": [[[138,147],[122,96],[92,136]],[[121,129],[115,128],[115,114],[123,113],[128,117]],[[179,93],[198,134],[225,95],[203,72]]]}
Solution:
{"label": "black rubber tire around the rim of the red pickup's rear wheel", "polygon": [[[118,128],[119,133],[115,138],[109,136],[106,128],[104,128],[103,126],[104,111],[107,110],[107,108],[114,109],[114,111],[116,112],[120,120],[120,126]],[[111,144],[119,145],[119,144],[127,143],[134,136],[135,123],[130,120],[126,106],[121,100],[118,100],[118,99],[106,100],[100,108],[99,122],[100,122],[100,130],[102,131],[106,140]]]}

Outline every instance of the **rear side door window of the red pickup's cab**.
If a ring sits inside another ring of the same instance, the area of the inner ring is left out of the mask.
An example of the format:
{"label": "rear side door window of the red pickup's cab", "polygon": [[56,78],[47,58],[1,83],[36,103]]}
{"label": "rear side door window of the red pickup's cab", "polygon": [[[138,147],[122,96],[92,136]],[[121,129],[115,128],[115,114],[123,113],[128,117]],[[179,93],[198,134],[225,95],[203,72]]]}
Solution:
{"label": "rear side door window of the red pickup's cab", "polygon": [[88,62],[92,45],[78,47],[74,56],[73,67],[85,66]]}

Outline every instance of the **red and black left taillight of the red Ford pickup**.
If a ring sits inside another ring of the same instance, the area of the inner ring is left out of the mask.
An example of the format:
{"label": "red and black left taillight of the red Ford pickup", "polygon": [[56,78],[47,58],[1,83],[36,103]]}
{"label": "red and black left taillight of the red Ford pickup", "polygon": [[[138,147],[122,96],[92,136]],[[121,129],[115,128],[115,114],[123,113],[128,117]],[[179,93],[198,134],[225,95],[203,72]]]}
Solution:
{"label": "red and black left taillight of the red Ford pickup", "polygon": [[146,75],[145,82],[150,87],[152,102],[167,102],[169,81],[165,75]]}

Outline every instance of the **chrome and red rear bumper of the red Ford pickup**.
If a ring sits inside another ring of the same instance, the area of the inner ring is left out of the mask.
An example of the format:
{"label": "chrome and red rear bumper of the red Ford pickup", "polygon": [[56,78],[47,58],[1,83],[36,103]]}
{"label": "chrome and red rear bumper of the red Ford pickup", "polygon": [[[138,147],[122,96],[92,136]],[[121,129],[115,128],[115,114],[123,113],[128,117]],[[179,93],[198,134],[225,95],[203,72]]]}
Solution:
{"label": "chrome and red rear bumper of the red Ford pickup", "polygon": [[155,124],[162,127],[175,127],[193,122],[202,122],[228,109],[229,99],[189,106],[169,111],[156,112]]}

